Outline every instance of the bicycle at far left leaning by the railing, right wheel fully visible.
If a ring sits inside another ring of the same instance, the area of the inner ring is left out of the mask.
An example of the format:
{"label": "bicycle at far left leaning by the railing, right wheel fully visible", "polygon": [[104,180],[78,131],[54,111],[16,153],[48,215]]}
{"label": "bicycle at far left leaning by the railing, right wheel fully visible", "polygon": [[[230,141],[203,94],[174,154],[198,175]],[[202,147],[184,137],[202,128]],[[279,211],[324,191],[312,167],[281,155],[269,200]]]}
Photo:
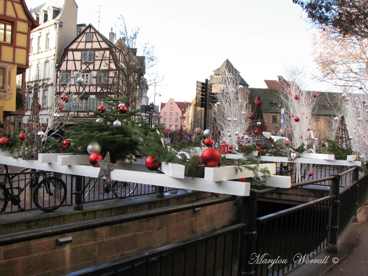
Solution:
{"label": "bicycle at far left leaning by the railing, right wheel fully visible", "polygon": [[[66,201],[67,188],[65,182],[58,176],[51,176],[47,172],[31,172],[30,177],[25,180],[25,184],[21,187],[19,184],[14,184],[14,178],[19,176],[20,173],[26,172],[28,169],[23,169],[18,174],[12,174],[9,172],[7,165],[3,165],[5,168],[4,179],[0,181],[0,212],[4,212],[9,202],[12,205],[17,205],[19,210],[24,211],[25,208],[21,206],[21,195],[26,187],[34,180],[36,180],[36,186],[33,191],[33,202],[37,208],[44,212],[52,212],[60,207]],[[41,181],[38,182],[39,177],[42,176]],[[8,186],[8,187],[7,187]],[[32,186],[32,185],[31,185]]]}

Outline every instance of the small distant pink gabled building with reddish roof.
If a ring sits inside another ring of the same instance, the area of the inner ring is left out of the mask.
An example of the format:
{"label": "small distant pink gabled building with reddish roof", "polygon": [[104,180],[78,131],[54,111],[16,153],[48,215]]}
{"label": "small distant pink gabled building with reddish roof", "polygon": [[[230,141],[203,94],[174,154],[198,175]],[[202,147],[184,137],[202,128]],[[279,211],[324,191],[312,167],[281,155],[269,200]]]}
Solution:
{"label": "small distant pink gabled building with reddish roof", "polygon": [[185,127],[185,112],[190,105],[190,102],[175,101],[172,98],[167,103],[161,102],[159,123],[164,124],[166,130],[169,130],[172,126],[176,129]]}

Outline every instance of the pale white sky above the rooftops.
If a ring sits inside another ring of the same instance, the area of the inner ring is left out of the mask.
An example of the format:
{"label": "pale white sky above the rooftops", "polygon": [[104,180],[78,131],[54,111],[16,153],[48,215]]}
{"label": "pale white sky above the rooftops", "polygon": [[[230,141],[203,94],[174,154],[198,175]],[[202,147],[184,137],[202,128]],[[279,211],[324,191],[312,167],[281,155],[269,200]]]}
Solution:
{"label": "pale white sky above the rooftops", "polygon": [[[305,70],[306,89],[325,90],[312,80],[313,29],[292,0],[75,1],[78,23],[92,24],[107,38],[111,28],[120,37],[120,15],[129,29],[139,27],[138,55],[143,44],[153,46],[158,63],[150,70],[163,78],[148,91],[156,105],[193,100],[196,81],[210,79],[226,59],[249,87],[263,88],[264,79],[297,67]],[[28,8],[43,2],[26,0]]]}

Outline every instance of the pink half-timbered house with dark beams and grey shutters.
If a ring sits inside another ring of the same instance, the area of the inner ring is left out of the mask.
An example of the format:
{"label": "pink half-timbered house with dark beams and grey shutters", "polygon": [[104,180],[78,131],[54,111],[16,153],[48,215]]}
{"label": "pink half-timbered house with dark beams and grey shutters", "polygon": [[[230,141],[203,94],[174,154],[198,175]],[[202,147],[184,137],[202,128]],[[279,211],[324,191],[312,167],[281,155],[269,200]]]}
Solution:
{"label": "pink half-timbered house with dark beams and grey shutters", "polygon": [[58,106],[60,116],[72,113],[71,120],[80,120],[100,105],[108,109],[106,95],[131,96],[124,103],[139,109],[142,90],[146,89],[144,58],[128,50],[124,40],[119,39],[116,45],[113,40],[113,33],[107,39],[88,25],[64,49],[57,65],[56,101],[60,102],[61,96],[67,98]]}

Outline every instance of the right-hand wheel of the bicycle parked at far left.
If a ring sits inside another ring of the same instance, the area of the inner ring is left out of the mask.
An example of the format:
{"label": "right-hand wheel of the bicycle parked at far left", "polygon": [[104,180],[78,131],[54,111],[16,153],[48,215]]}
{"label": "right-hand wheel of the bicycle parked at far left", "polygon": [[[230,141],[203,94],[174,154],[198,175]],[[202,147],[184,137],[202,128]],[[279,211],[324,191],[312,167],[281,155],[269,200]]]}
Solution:
{"label": "right-hand wheel of the bicycle parked at far left", "polygon": [[44,212],[52,212],[66,200],[66,184],[59,177],[46,177],[33,192],[33,202]]}

